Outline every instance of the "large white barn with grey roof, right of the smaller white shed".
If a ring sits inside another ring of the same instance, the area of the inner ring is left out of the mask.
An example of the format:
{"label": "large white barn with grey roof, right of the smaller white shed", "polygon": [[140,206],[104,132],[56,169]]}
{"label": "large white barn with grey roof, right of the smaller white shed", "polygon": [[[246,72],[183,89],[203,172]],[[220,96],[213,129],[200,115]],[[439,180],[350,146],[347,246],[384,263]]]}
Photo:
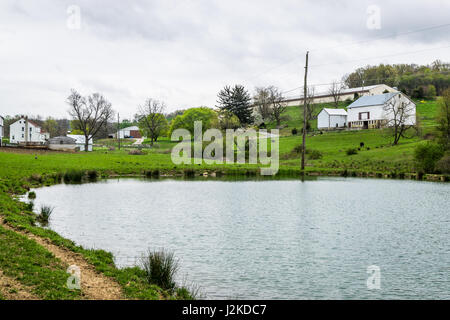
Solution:
{"label": "large white barn with grey roof, right of the smaller white shed", "polygon": [[399,116],[394,110],[403,107],[405,125],[416,124],[416,105],[405,94],[390,92],[364,96],[347,107],[347,126],[350,129],[374,129],[390,126]]}

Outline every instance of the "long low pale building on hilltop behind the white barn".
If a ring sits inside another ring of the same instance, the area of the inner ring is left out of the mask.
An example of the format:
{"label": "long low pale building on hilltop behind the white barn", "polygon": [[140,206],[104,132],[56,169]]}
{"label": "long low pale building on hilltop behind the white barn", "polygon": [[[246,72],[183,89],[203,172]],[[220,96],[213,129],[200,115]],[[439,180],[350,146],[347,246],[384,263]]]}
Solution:
{"label": "long low pale building on hilltop behind the white barn", "polygon": [[[378,94],[382,94],[386,91],[387,92],[398,92],[397,89],[391,88],[385,84],[377,84],[377,85],[373,85],[373,86],[343,89],[339,93],[339,100],[340,101],[345,101],[347,99],[354,100],[354,99],[357,99],[358,97],[378,95]],[[302,105],[303,104],[303,96],[288,98],[288,99],[284,100],[284,102],[288,106]],[[312,103],[331,103],[331,102],[334,102],[333,95],[329,94],[328,92],[323,92],[323,93],[315,94]]]}

